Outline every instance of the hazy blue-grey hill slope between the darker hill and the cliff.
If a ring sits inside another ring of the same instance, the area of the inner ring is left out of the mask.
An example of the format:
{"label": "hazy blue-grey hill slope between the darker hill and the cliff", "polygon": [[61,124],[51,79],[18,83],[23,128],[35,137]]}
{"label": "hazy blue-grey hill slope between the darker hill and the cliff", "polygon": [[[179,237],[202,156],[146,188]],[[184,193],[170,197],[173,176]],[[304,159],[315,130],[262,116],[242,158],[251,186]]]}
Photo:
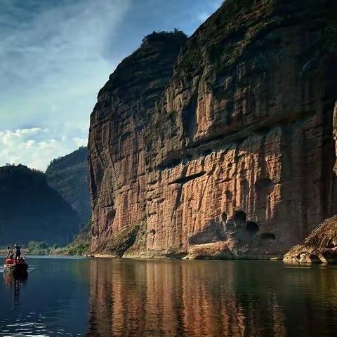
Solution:
{"label": "hazy blue-grey hill slope between the darker hill and the cliff", "polygon": [[91,217],[91,201],[88,187],[88,148],[54,159],[46,170],[47,182],[67,201],[86,224]]}

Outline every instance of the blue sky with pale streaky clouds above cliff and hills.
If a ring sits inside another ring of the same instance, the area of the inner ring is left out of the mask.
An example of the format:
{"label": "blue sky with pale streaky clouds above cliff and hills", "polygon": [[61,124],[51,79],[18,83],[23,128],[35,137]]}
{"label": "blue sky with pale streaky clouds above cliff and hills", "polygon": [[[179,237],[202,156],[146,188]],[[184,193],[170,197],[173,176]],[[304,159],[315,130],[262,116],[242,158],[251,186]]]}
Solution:
{"label": "blue sky with pale streaky clouds above cliff and hills", "polygon": [[146,34],[192,34],[223,0],[0,0],[0,166],[87,144],[99,89]]}

